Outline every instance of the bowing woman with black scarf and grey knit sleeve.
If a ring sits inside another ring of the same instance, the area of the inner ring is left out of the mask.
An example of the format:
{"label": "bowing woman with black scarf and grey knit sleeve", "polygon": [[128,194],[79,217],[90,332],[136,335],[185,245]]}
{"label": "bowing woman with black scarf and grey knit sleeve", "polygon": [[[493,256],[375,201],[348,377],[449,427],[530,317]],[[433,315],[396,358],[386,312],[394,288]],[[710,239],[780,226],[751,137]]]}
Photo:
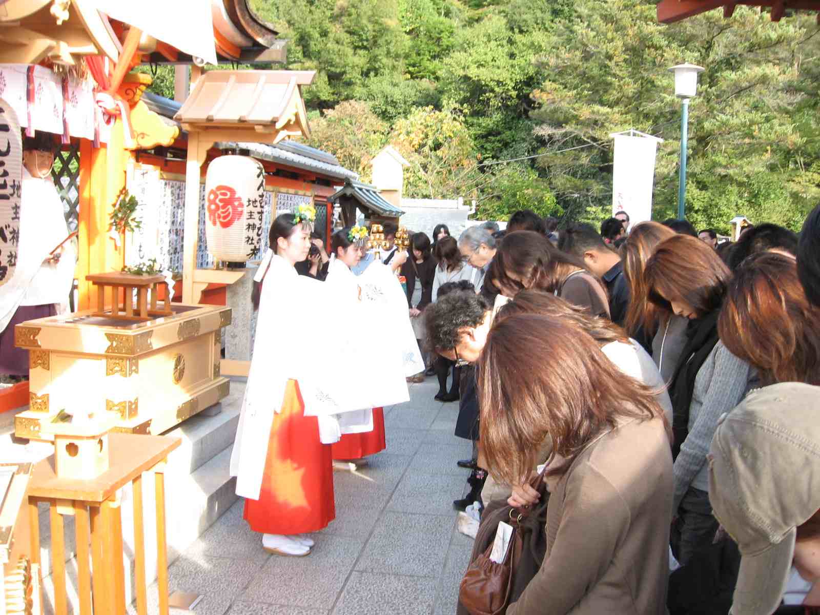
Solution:
{"label": "bowing woman with black scarf and grey knit sleeve", "polygon": [[649,300],[658,309],[689,321],[669,385],[675,459],[672,551],[686,565],[696,551],[712,544],[717,531],[706,463],[717,419],[740,403],[755,374],[718,339],[717,317],[731,272],[713,248],[689,235],[670,237],[655,248],[644,277]]}

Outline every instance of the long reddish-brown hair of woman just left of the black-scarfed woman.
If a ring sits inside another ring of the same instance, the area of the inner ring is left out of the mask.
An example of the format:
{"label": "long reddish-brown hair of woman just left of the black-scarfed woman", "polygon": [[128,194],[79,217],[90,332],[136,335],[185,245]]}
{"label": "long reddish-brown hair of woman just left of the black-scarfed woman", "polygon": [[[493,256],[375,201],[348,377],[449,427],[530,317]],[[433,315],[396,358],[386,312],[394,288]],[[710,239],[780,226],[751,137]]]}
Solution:
{"label": "long reddish-brown hair of woman just left of the black-scarfed woman", "polygon": [[658,222],[641,222],[632,228],[621,246],[623,275],[629,285],[630,301],[624,327],[634,335],[641,327],[654,335],[658,324],[670,312],[649,301],[649,288],[644,280],[646,262],[662,241],[675,236],[675,231]]}

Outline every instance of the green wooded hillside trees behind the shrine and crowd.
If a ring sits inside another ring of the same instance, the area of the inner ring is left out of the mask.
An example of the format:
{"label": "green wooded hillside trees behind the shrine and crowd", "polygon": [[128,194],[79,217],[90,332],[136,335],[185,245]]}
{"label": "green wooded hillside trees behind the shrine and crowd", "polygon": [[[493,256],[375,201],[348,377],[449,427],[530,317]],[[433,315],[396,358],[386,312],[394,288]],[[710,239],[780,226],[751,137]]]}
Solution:
{"label": "green wooded hillside trees behind the shrine and crowd", "polygon": [[[664,139],[654,218],[676,208],[680,104],[669,66],[704,66],[690,105],[687,216],[798,229],[820,192],[820,36],[812,13],[736,7],[658,24],[646,0],[252,0],[289,39],[310,143],[370,179],[393,144],[408,197],[474,199],[599,221],[612,200],[612,141]],[[154,86],[172,88],[157,75]],[[510,162],[505,162],[510,161]]]}

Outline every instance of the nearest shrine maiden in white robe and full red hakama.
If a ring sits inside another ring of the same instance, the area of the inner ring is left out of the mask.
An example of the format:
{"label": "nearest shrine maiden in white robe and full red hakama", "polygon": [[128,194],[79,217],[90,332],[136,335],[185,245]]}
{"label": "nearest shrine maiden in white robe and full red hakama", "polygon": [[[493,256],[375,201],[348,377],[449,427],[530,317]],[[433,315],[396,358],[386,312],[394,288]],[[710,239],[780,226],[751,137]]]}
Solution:
{"label": "nearest shrine maiden in white robe and full red hakama", "polygon": [[[321,282],[299,276],[294,265],[310,248],[311,209],[282,214],[271,225],[271,248],[254,278],[256,341],[230,459],[236,493],[245,498],[244,518],[262,534],[262,548],[289,556],[310,553],[313,540],[305,533],[335,518],[322,417],[305,411],[305,390],[317,378],[316,358],[307,349],[319,344],[309,338]],[[305,326],[289,326],[294,319]]]}

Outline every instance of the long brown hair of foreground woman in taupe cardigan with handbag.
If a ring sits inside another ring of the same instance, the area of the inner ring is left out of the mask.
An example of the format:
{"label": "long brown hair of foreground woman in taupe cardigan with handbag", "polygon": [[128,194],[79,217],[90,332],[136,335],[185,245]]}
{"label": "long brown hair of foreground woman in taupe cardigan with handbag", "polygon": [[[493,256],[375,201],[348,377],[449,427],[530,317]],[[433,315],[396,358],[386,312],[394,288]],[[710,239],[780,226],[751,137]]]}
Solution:
{"label": "long brown hair of foreground woman in taupe cardigan with handbag", "polygon": [[[506,240],[506,239],[505,239]],[[625,378],[590,335],[540,314],[494,322],[476,363],[481,448],[488,469],[520,485],[550,436],[566,461],[618,417],[663,418],[652,390]]]}

